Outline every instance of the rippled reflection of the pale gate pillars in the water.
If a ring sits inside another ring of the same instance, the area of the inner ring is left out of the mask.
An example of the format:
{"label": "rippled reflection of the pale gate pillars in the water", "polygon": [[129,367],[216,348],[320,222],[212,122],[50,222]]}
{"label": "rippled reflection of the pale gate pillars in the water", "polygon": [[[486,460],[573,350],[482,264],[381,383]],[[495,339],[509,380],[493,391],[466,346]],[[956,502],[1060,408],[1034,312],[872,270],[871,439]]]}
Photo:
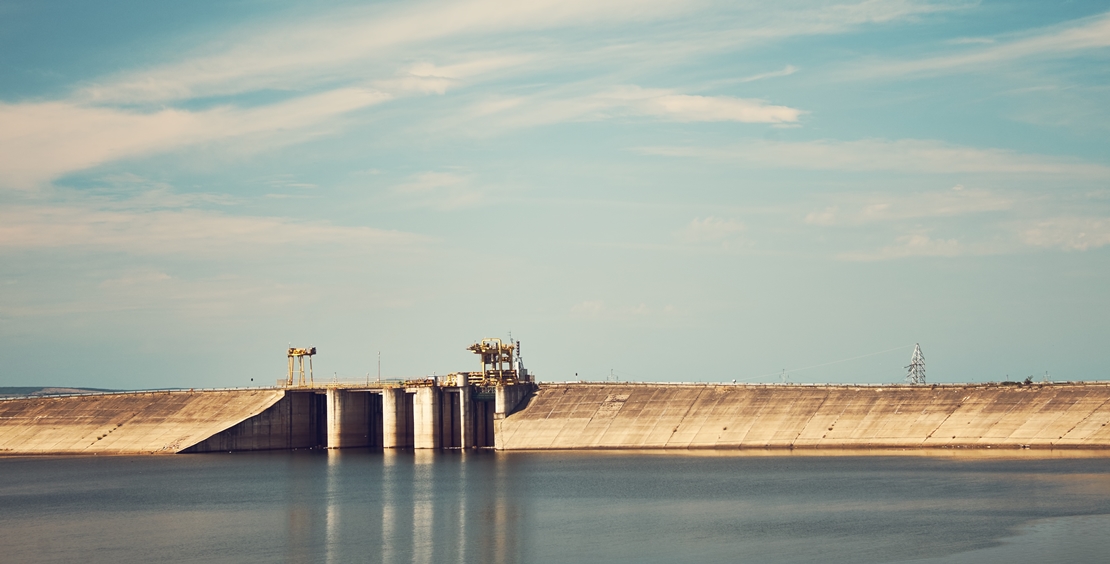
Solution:
{"label": "rippled reflection of the pale gate pillars in the water", "polygon": [[[327,563],[369,556],[413,564],[521,562],[515,541],[523,514],[506,459],[432,451],[322,455],[322,483],[317,457],[293,462],[289,495],[297,503],[289,507],[286,538],[295,561],[320,562],[323,550]],[[379,472],[363,473],[372,466]],[[361,472],[352,472],[356,467]],[[300,490],[313,483],[319,489]]]}

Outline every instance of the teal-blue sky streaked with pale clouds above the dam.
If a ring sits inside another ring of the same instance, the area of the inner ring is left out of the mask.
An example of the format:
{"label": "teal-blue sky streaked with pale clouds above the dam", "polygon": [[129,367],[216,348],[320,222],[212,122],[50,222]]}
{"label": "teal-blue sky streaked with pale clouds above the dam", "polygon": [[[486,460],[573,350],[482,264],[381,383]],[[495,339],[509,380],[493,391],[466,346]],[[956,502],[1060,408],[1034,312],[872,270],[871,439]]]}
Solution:
{"label": "teal-blue sky streaked with pale clouds above the dam", "polygon": [[1110,380],[1108,10],[3,0],[0,385]]}

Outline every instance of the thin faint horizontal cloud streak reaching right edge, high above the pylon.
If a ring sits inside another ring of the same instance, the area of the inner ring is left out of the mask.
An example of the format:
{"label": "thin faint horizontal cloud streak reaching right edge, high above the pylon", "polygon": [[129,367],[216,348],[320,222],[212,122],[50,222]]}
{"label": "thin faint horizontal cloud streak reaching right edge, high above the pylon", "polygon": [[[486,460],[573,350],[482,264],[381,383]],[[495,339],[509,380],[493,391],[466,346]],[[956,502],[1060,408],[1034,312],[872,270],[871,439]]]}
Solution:
{"label": "thin faint horizontal cloud streak reaching right edge, high above the pylon", "polygon": [[978,149],[941,141],[754,142],[733,147],[649,147],[648,154],[744,162],[755,167],[915,173],[1013,173],[1110,177],[1110,167],[1078,159]]}

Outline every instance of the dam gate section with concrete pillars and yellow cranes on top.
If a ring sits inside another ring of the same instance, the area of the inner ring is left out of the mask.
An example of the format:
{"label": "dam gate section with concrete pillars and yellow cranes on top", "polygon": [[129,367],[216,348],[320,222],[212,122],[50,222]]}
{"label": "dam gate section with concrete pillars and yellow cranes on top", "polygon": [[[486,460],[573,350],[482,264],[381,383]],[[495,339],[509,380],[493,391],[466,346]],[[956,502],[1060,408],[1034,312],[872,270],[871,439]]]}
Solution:
{"label": "dam gate section with concrete pillars and yellow cranes on top", "polygon": [[[181,452],[274,449],[493,449],[495,425],[534,390],[519,342],[484,339],[467,350],[481,370],[398,383],[321,384],[304,379],[315,348],[289,350],[283,397]],[[294,370],[294,359],[300,370]],[[300,375],[300,379],[295,379]]]}

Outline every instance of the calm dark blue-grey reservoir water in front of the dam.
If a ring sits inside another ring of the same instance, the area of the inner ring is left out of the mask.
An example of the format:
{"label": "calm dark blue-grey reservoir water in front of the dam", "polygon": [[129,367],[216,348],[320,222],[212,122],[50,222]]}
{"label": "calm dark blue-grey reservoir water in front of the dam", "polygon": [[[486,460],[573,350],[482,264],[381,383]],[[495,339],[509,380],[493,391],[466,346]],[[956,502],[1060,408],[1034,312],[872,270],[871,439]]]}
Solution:
{"label": "calm dark blue-grey reservoir water in front of the dam", "polygon": [[1100,562],[1110,459],[0,459],[0,562]]}

